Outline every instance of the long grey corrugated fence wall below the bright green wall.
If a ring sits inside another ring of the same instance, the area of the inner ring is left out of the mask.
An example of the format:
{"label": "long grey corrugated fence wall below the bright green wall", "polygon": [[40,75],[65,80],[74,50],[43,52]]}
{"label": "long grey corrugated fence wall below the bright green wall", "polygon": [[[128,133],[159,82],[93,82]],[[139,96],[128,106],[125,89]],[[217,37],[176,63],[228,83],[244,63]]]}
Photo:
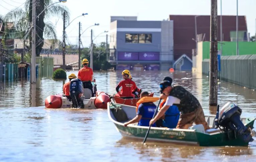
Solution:
{"label": "long grey corrugated fence wall below the bright green wall", "polygon": [[[203,74],[208,74],[209,59],[204,59],[202,66]],[[222,56],[221,79],[256,89],[256,55]]]}

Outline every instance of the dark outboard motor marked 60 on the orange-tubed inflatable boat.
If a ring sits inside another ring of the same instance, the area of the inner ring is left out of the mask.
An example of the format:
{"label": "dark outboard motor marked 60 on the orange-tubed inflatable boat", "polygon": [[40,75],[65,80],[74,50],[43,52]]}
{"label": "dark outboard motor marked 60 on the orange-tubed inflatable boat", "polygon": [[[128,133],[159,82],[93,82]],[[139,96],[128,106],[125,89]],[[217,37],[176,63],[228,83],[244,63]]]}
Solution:
{"label": "dark outboard motor marked 60 on the orange-tubed inflatable boat", "polygon": [[83,83],[80,79],[72,79],[70,81],[70,98],[74,108],[83,108]]}

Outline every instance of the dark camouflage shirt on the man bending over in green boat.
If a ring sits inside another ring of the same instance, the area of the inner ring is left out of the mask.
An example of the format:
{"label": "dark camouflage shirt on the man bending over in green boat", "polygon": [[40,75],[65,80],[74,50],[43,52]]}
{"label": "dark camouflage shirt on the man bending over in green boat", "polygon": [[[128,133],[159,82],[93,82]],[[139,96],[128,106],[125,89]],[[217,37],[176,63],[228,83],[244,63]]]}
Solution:
{"label": "dark camouflage shirt on the man bending over in green boat", "polygon": [[174,85],[169,96],[180,99],[180,104],[177,105],[182,114],[190,113],[200,107],[199,101],[185,88],[180,85]]}

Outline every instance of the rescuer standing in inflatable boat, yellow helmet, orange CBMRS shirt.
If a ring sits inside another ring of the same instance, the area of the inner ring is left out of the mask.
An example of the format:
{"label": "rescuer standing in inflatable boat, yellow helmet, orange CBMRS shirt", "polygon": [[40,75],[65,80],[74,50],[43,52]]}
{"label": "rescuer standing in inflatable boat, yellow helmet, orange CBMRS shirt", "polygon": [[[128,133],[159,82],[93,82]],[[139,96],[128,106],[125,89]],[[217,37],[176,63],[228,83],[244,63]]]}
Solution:
{"label": "rescuer standing in inflatable boat, yellow helmet, orange CBMRS shirt", "polygon": [[93,80],[92,68],[88,67],[89,61],[86,58],[83,59],[82,64],[84,65],[84,67],[78,71],[77,78],[83,82],[84,89],[86,88],[91,90],[92,97],[94,97],[93,90],[92,90],[93,86],[91,83]]}

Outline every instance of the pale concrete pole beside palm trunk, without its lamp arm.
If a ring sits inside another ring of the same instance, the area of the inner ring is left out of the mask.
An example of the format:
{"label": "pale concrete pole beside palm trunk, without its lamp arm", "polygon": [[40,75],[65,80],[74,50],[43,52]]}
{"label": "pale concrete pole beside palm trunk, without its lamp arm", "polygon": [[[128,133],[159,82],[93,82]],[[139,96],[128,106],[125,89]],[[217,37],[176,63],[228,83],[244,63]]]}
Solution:
{"label": "pale concrete pole beside palm trunk, without its lamp arm", "polygon": [[30,83],[36,83],[35,79],[35,7],[36,7],[36,0],[32,1],[32,53],[31,53],[31,66],[30,66]]}

